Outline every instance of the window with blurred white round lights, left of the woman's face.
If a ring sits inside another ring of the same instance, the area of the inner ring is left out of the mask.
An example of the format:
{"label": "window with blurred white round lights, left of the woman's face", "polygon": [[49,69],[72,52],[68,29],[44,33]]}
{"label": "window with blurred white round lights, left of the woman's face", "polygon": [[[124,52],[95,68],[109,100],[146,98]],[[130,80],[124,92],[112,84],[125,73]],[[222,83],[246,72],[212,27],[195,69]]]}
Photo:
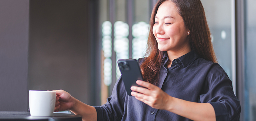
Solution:
{"label": "window with blurred white round lights, left of the woman's face", "polygon": [[[100,0],[102,32],[102,104],[121,76],[119,59],[144,57],[155,0]],[[108,15],[108,16],[106,16]]]}

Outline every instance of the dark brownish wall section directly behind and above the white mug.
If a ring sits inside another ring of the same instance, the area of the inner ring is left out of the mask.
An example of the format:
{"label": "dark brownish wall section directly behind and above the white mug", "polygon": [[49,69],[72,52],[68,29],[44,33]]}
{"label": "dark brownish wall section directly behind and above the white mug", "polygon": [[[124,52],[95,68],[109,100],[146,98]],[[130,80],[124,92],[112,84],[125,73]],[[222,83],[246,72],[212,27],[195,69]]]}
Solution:
{"label": "dark brownish wall section directly behind and above the white mug", "polygon": [[63,89],[91,104],[89,0],[30,0],[29,90]]}

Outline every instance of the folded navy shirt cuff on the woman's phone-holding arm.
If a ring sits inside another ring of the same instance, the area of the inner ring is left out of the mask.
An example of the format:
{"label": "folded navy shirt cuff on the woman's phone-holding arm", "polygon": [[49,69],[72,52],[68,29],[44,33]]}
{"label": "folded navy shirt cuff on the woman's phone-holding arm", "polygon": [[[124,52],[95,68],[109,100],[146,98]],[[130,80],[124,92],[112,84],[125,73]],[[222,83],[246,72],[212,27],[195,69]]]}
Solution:
{"label": "folded navy shirt cuff on the woman's phone-holding arm", "polygon": [[228,111],[222,103],[210,102],[214,108],[216,121],[229,121]]}

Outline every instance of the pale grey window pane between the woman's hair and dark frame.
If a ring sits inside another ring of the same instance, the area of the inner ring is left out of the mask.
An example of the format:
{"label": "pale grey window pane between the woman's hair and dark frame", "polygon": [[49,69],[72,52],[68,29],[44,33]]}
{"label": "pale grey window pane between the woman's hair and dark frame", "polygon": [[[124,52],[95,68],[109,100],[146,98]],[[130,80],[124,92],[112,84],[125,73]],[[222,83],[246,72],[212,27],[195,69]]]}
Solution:
{"label": "pale grey window pane between the woman's hair and dark frame", "polygon": [[234,2],[230,0],[201,0],[211,31],[214,52],[218,63],[232,80],[236,93],[235,71],[235,19]]}

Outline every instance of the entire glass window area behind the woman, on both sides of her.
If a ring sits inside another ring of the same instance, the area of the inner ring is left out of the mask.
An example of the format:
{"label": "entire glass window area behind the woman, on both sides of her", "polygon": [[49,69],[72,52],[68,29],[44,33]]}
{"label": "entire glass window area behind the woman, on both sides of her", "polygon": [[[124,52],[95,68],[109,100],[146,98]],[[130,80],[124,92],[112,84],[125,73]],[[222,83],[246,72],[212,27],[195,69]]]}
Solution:
{"label": "entire glass window area behind the woman, on both sides of her", "polygon": [[[143,57],[149,19],[157,0],[100,0],[102,27],[102,104],[111,94],[118,59]],[[218,63],[232,80],[241,103],[241,119],[256,120],[255,0],[201,0]],[[245,4],[245,5],[244,5]],[[245,12],[244,12],[245,11]],[[244,15],[245,14],[245,15]],[[240,20],[241,19],[241,20]],[[244,24],[245,22],[245,24]],[[106,34],[107,32],[108,34]],[[138,46],[140,45],[140,46]],[[236,84],[238,83],[238,84]],[[105,95],[105,96],[102,96]]]}

